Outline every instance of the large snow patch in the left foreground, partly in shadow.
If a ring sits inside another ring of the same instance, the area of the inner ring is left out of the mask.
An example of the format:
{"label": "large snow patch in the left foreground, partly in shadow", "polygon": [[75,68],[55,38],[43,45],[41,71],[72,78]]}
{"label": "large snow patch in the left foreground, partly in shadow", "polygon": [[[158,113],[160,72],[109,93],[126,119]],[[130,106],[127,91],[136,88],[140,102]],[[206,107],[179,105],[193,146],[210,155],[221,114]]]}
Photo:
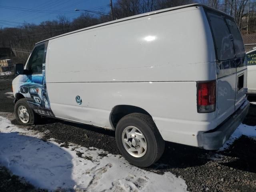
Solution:
{"label": "large snow patch in the left foreground, partly in shadow", "polygon": [[0,116],[0,164],[48,190],[186,191],[185,181],[170,172],[155,174],[130,165],[119,155],[74,144],[61,148],[54,140],[40,138],[42,133],[18,128]]}

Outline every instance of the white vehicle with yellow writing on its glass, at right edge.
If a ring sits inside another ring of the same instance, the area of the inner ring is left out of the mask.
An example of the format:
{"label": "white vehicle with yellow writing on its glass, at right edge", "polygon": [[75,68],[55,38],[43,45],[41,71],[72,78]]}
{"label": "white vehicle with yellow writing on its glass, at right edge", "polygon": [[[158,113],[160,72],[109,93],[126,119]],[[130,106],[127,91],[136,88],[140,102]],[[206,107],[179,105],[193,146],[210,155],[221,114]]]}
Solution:
{"label": "white vehicle with yellow writing on its glass, at right edge", "polygon": [[256,49],[246,53],[247,63],[247,94],[256,95]]}

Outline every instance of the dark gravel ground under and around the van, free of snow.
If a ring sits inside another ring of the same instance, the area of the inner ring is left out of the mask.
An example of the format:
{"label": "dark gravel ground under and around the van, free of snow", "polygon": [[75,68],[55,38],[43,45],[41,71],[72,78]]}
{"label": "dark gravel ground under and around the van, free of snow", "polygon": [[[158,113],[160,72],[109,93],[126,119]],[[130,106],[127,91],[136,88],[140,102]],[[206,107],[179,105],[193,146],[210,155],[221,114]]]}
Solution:
{"label": "dark gravel ground under and around the van, free of snow", "polygon": [[[6,98],[4,93],[11,91],[11,81],[14,76],[4,76],[0,78],[0,112],[13,112],[13,100]],[[256,98],[249,98],[255,101]],[[244,124],[256,125],[256,105],[250,106],[250,110]],[[12,120],[17,124],[16,120]],[[95,147],[103,149],[112,154],[119,154],[114,131],[95,128],[88,125],[74,124],[62,120],[43,118],[37,125],[25,127],[40,132],[48,132],[44,140],[55,138],[58,142],[64,143],[63,147],[68,147],[68,143],[75,143],[84,147]],[[214,160],[213,160],[214,159]],[[206,151],[200,148],[166,143],[166,149],[162,158],[153,166],[145,170],[163,174],[172,172],[176,176],[182,177],[188,185],[188,191],[210,191],[210,192],[255,192],[256,191],[256,140],[242,136],[230,146],[229,149],[216,152]],[[19,182],[17,177],[10,176],[4,168],[0,169],[0,191],[29,191],[32,186]],[[10,178],[7,190],[6,184]],[[28,187],[28,188],[27,188]],[[29,188],[30,187],[30,188]],[[35,191],[34,188],[31,190]],[[40,190],[39,190],[40,191]]]}

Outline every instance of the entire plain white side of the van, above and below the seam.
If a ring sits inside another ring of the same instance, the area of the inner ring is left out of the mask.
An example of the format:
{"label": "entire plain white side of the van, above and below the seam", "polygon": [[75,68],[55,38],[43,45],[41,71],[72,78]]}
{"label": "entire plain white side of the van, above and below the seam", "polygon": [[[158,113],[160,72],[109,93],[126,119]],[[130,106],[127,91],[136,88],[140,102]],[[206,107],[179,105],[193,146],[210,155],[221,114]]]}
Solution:
{"label": "entire plain white side of the van, above and below the seam", "polygon": [[[196,81],[215,80],[210,27],[202,7],[115,23],[49,40],[46,80],[58,118],[113,128],[116,105],[137,106],[164,140],[199,146],[216,112],[197,113]],[[76,96],[82,104],[76,103]]]}

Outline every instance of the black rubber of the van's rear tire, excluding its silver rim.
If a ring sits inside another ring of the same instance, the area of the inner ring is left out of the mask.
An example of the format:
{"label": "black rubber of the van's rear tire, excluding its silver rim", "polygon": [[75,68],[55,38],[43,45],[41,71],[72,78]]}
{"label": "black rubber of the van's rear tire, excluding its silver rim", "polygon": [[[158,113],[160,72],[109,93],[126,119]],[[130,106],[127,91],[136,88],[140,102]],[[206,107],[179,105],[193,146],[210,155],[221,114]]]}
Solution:
{"label": "black rubber of the van's rear tire, excluding its silver rim", "polygon": [[[128,126],[138,128],[146,138],[147,150],[142,157],[134,157],[124,148],[122,132]],[[165,147],[165,141],[160,135],[153,119],[149,115],[141,113],[128,114],[118,122],[116,126],[116,144],[124,158],[131,164],[139,167],[148,167],[156,162],[162,156]]]}

